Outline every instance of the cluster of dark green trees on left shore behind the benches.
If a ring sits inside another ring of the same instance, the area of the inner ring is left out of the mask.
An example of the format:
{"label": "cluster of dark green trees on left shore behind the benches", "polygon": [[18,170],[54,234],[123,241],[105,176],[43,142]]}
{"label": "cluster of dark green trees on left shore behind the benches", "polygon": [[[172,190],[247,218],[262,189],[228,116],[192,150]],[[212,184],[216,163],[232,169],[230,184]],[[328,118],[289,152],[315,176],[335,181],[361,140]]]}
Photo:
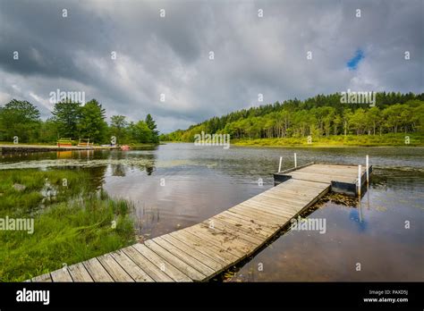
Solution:
{"label": "cluster of dark green trees on left shore behind the benches", "polygon": [[56,103],[47,121],[40,119],[35,105],[13,99],[0,106],[0,141],[55,143],[57,139],[89,139],[96,144],[157,143],[156,122],[150,114],[139,122],[128,122],[123,115],[113,115],[109,124],[106,111],[96,99],[85,105],[69,100]]}

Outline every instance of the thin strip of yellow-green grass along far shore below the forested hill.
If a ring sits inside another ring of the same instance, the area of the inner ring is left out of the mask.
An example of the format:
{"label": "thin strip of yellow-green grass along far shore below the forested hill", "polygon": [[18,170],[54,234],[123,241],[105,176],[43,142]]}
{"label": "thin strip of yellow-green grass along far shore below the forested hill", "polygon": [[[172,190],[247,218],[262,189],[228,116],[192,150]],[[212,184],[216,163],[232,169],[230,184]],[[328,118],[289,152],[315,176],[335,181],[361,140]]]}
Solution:
{"label": "thin strip of yellow-green grass along far shore below the forested hill", "polygon": [[[410,144],[405,144],[405,136],[409,136]],[[383,135],[343,135],[329,137],[312,137],[312,143],[308,144],[304,138],[284,139],[233,139],[236,146],[258,147],[377,147],[377,146],[424,146],[424,134],[383,134]]]}

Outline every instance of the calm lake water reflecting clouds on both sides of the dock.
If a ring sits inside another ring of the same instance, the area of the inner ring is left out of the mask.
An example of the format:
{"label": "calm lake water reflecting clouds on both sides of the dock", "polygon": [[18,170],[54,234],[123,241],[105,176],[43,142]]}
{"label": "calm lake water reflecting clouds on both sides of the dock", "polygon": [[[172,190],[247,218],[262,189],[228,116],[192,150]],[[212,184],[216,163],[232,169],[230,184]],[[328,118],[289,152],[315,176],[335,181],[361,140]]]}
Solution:
{"label": "calm lake water reflecting clouds on both sides of the dock", "polygon": [[[225,281],[424,281],[424,148],[196,147],[2,155],[0,169],[88,170],[95,186],[134,202],[140,240],[199,223],[273,187],[283,169],[310,162],[365,164],[360,204],[328,201],[308,215],[326,233],[287,231]],[[262,182],[260,182],[262,181]]]}

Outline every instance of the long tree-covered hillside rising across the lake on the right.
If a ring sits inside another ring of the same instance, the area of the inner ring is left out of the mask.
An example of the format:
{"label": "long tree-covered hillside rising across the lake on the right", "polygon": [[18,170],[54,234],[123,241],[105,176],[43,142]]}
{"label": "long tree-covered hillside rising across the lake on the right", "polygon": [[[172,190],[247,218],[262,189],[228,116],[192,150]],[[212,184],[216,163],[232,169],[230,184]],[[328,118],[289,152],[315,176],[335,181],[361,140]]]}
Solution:
{"label": "long tree-covered hillside rising across the lake on the right", "polygon": [[376,105],[342,104],[341,94],[286,100],[242,109],[160,136],[163,141],[193,141],[202,130],[232,139],[381,135],[423,131],[424,93],[377,93]]}

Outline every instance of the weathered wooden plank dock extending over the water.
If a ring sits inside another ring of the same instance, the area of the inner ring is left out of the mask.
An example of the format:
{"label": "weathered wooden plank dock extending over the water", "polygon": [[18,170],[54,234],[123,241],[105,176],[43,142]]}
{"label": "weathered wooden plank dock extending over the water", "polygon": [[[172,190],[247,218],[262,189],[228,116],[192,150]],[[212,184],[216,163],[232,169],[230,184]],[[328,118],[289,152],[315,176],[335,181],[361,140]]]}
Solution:
{"label": "weathered wooden plank dock extending over the water", "polygon": [[[365,167],[361,172],[365,176]],[[34,277],[29,282],[208,281],[252,256],[330,189],[345,189],[352,194],[358,184],[358,166],[307,164],[276,173],[275,181],[274,188],[203,223]]]}

